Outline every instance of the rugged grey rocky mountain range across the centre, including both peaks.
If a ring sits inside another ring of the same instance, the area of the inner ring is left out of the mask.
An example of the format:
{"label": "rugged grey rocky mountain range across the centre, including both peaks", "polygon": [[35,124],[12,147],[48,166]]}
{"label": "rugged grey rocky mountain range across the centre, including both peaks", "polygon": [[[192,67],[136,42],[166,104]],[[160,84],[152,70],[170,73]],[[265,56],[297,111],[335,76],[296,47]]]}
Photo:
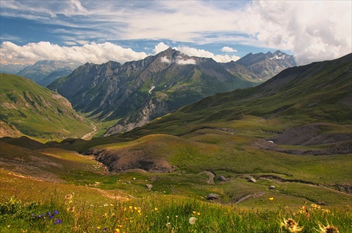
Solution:
{"label": "rugged grey rocky mountain range across the centre, including both peaks", "polygon": [[86,63],[48,88],[92,119],[118,120],[105,133],[111,135],[130,131],[206,96],[258,85],[295,64],[293,56],[280,51],[218,63],[168,48],[123,65]]}

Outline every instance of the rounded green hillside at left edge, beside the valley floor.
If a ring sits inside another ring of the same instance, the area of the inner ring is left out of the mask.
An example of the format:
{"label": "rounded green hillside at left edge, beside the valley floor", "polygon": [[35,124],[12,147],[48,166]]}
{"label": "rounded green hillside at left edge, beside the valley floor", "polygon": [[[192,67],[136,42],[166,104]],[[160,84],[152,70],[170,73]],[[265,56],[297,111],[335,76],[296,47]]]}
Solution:
{"label": "rounded green hillside at left edge, beside the valley floor", "polygon": [[[0,121],[33,138],[80,138],[92,131],[70,102],[21,76],[0,74]],[[2,135],[4,136],[4,135]]]}

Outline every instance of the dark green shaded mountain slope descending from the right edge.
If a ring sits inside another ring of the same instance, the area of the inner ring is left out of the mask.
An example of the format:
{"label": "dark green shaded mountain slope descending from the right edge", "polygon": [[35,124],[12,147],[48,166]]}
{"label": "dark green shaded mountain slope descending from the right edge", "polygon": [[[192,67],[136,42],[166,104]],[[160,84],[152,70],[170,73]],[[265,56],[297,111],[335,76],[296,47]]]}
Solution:
{"label": "dark green shaded mountain slope descending from the right edge", "polygon": [[[138,137],[151,133],[184,135],[203,127],[241,122],[251,115],[263,119],[263,126],[258,126],[260,128],[265,128],[264,121],[277,122],[274,128],[279,128],[279,131],[313,126],[315,136],[325,134],[327,138],[334,137],[334,140],[326,142],[346,141],[352,135],[351,58],[349,54],[337,60],[285,69],[260,86],[204,98],[123,136]],[[243,122],[246,124],[246,121]],[[236,131],[236,128],[229,130]],[[337,135],[337,131],[342,135]],[[300,128],[299,132],[304,133],[305,130]],[[298,133],[296,137],[302,136]],[[292,136],[282,142],[294,144],[294,140]],[[323,144],[324,140],[320,138],[316,142]]]}

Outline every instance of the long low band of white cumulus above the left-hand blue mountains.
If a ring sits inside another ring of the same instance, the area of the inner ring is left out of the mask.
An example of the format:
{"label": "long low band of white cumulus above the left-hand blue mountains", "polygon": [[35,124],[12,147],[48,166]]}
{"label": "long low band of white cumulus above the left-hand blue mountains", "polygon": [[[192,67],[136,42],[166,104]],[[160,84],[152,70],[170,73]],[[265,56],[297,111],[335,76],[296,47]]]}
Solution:
{"label": "long low band of white cumulus above the left-hand blue mountains", "polygon": [[68,47],[45,41],[24,46],[4,41],[1,44],[0,51],[2,63],[18,62],[23,64],[32,64],[38,60],[76,60],[98,64],[114,60],[124,63],[131,60],[141,60],[147,56],[144,52],[139,53],[131,48],[122,48],[109,42]]}

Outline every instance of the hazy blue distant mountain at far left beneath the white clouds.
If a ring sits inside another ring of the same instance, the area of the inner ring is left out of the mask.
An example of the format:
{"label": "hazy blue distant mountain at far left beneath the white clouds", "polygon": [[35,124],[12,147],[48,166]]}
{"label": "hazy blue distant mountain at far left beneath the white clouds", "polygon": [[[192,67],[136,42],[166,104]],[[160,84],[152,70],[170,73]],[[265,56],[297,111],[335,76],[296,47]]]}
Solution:
{"label": "hazy blue distant mountain at far left beneath the white clouds", "polygon": [[41,60],[21,69],[17,75],[32,79],[41,86],[48,86],[56,79],[67,76],[80,65],[81,62],[75,61]]}

